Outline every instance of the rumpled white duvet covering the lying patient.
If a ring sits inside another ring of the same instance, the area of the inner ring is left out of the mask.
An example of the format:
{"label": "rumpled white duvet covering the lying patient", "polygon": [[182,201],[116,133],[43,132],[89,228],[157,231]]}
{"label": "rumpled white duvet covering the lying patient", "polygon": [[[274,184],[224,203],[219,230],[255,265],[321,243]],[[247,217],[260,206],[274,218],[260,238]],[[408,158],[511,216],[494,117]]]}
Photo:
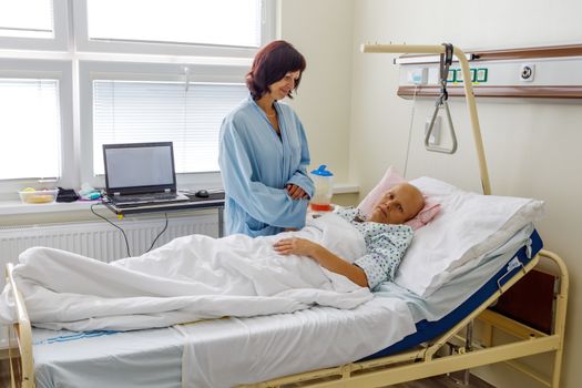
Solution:
{"label": "rumpled white duvet covering the lying patient", "polygon": [[[334,214],[292,234],[350,262],[365,252],[359,233]],[[163,327],[312,305],[354,308],[371,298],[367,288],[310,258],[278,255],[273,243],[283,236],[192,235],[111,264],[35,247],[20,255],[14,277],[34,326],[75,331]],[[8,287],[0,302],[0,323],[13,319]]]}

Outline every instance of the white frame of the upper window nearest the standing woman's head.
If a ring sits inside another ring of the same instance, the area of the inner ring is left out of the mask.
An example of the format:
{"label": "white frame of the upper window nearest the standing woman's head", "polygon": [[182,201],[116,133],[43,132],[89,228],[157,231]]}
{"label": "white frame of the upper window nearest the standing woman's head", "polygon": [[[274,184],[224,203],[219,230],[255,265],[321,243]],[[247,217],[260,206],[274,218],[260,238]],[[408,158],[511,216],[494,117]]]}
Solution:
{"label": "white frame of the upper window nearest the standing woman's head", "polygon": [[[139,53],[194,57],[233,57],[253,58],[258,48],[234,45],[210,45],[186,43],[155,43],[137,41],[99,41],[90,40],[88,31],[88,0],[75,0],[73,4],[73,23],[76,50],[81,52]],[[262,29],[259,47],[275,39],[276,1],[261,0]]]}

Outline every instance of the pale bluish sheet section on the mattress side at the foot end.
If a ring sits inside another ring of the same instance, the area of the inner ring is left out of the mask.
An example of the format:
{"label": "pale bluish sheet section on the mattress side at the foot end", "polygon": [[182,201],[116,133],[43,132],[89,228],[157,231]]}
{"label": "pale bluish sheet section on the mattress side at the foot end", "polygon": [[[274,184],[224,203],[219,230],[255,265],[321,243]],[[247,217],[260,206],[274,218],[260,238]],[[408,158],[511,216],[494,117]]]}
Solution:
{"label": "pale bluish sheet section on the mattress side at the foot end", "polygon": [[71,334],[32,329],[38,388],[181,387],[184,337],[174,328],[43,343]]}

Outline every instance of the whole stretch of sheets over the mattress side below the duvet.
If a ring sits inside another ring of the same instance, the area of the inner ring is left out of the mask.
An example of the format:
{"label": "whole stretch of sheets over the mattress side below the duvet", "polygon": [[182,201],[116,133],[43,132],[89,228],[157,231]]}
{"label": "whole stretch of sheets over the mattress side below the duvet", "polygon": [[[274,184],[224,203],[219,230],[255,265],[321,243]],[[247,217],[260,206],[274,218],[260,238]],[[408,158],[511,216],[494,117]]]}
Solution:
{"label": "whole stretch of sheets over the mattress side below the duvet", "polygon": [[413,329],[406,303],[386,297],[71,341],[33,329],[37,387],[231,387],[354,361]]}

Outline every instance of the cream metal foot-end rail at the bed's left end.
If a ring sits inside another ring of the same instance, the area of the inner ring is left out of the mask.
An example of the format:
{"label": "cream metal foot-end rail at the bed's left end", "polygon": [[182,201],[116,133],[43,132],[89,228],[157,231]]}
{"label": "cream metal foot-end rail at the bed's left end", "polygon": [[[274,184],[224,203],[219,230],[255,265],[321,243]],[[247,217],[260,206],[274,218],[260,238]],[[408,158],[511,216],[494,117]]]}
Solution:
{"label": "cream metal foot-end rail at the bed's left end", "polygon": [[[10,356],[10,372],[13,387],[33,388],[34,384],[34,363],[32,359],[32,328],[30,325],[29,315],[24,306],[22,294],[18,290],[17,283],[12,276],[14,265],[7,264],[7,282],[10,284],[12,295],[14,298],[14,307],[17,314],[17,323],[13,325],[16,338],[18,341],[18,350],[20,351],[20,376],[17,376],[16,359]],[[18,378],[20,377],[20,378]],[[18,378],[18,381],[16,379]],[[20,382],[20,384],[19,384]]]}

